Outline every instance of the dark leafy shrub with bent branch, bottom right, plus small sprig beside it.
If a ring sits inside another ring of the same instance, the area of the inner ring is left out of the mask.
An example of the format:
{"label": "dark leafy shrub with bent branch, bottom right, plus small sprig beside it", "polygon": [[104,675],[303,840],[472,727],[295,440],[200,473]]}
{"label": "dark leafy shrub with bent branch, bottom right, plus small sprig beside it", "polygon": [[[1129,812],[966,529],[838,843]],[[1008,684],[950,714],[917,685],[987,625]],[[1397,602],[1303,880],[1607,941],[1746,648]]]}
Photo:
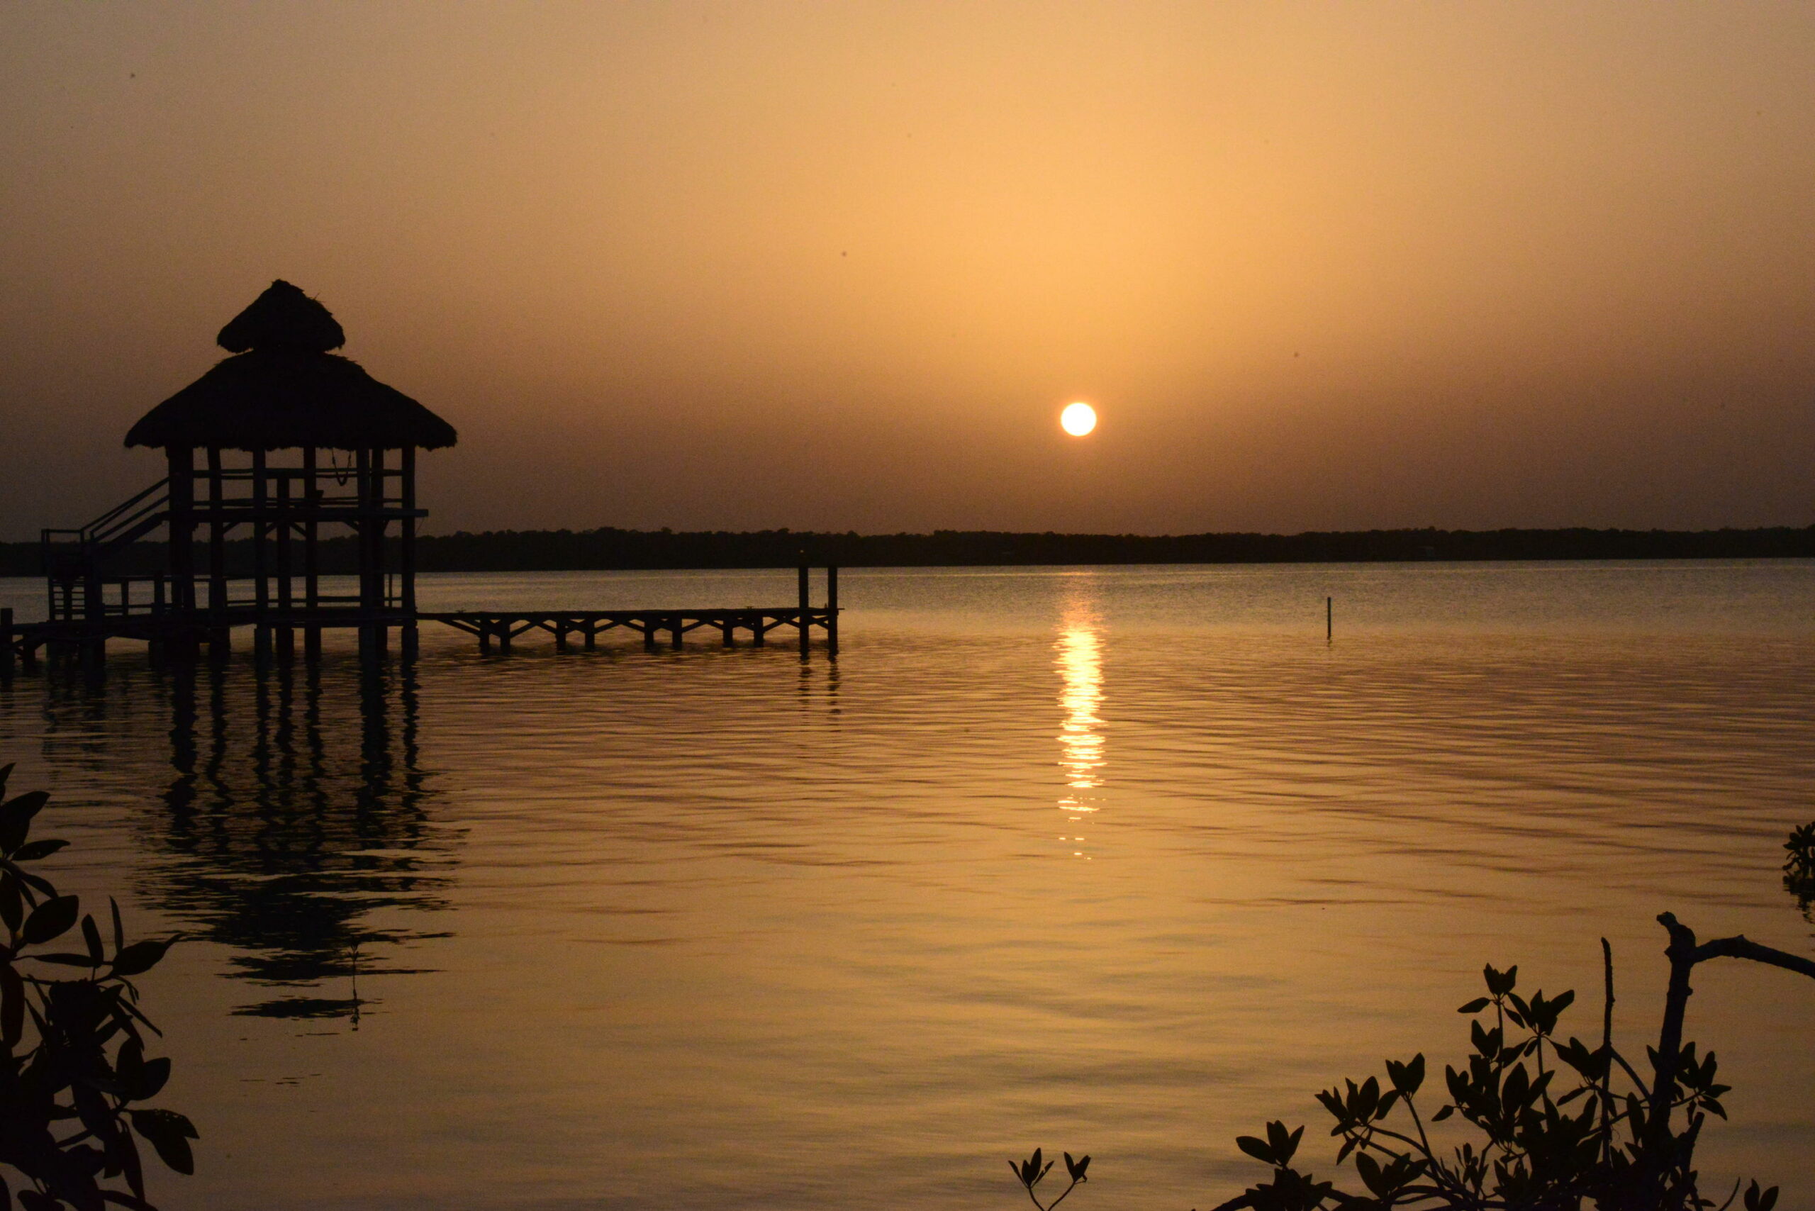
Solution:
{"label": "dark leafy shrub with bent branch, bottom right, plus small sprig beside it", "polygon": [[[1815,826],[1804,842],[1815,842]],[[1606,1000],[1601,1042],[1594,1048],[1575,1037],[1559,1039],[1574,991],[1555,997],[1535,991],[1526,999],[1517,991],[1517,968],[1488,966],[1483,971],[1486,995],[1461,1006],[1472,1019],[1472,1055],[1461,1068],[1445,1068],[1448,1100],[1434,1113],[1427,1117],[1418,1106],[1427,1075],[1423,1053],[1405,1062],[1387,1060],[1385,1084],[1378,1077],[1359,1084],[1345,1080],[1318,1095],[1336,1120],[1330,1135],[1341,1138],[1336,1164],[1352,1160],[1363,1191],[1338,1189],[1334,1180],[1298,1169],[1294,1157],[1305,1127],[1289,1129],[1274,1120],[1263,1135],[1236,1138],[1243,1153],[1272,1166],[1270,1178],[1216,1211],[1715,1207],[1699,1189],[1695,1144],[1710,1115],[1726,1118],[1721,1097],[1728,1086],[1715,1078],[1713,1051],[1699,1055],[1693,1042],[1683,1040],[1690,973],[1710,959],[1750,959],[1815,979],[1815,962],[1742,935],[1697,942],[1695,931],[1672,913],[1657,921],[1670,933],[1664,950],[1670,989],[1657,1046],[1646,1048],[1650,1078],[1614,1048],[1614,953],[1606,939],[1601,939]],[[1447,1120],[1454,1126],[1437,1129]],[[1448,1147],[1432,1138],[1434,1133],[1454,1135],[1456,1127],[1474,1138]],[[1035,1182],[1045,1175],[1040,1153],[1013,1167],[1033,1196]],[[1082,1180],[1082,1166],[1073,1184],[1076,1180]],[[1753,1180],[1741,1196],[1735,1182],[1719,1207],[1735,1198],[1746,1211],[1771,1211],[1777,1187],[1761,1189]]]}

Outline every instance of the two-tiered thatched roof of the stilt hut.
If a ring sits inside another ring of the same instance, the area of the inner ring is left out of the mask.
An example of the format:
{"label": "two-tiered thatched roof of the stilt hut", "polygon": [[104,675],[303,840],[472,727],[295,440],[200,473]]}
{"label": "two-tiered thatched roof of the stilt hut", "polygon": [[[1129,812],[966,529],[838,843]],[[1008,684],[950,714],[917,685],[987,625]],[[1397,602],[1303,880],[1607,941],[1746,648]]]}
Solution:
{"label": "two-tiered thatched roof of the stilt hut", "polygon": [[358,361],[338,358],[345,336],[329,309],[272,281],[221,329],[238,356],[182,389],[125,436],[129,447],[339,450],[450,447],[454,427]]}

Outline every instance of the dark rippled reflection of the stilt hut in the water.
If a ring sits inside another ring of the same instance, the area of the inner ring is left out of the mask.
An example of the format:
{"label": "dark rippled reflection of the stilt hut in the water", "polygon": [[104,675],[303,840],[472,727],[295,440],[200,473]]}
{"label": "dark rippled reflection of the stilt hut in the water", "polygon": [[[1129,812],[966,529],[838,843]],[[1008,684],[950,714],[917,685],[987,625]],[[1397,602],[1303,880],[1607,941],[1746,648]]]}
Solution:
{"label": "dark rippled reflection of the stilt hut in the water", "polygon": [[[427,812],[416,674],[350,659],[245,672],[147,672],[167,699],[174,777],[149,817],[140,893],[229,946],[236,977],[289,989],[238,1013],[358,1026],[356,977],[416,971],[387,955],[445,937],[397,922],[445,906],[452,861]],[[82,694],[131,692],[118,683]]]}

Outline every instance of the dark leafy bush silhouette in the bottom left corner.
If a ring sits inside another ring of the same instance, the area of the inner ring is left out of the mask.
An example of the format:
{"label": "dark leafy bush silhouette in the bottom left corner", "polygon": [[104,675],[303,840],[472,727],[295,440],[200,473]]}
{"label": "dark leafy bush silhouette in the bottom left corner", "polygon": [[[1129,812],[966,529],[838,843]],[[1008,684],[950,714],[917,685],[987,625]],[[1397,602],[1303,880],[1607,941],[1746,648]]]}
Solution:
{"label": "dark leafy bush silhouette in the bottom left corner", "polygon": [[[13,766],[0,770],[0,797]],[[105,1204],[154,1211],[134,1133],[165,1166],[194,1173],[196,1127],[172,1109],[140,1106],[158,1097],[171,1060],[145,1057],[158,1028],[138,1008],[132,977],[154,968],[176,937],[127,942],[113,908],[109,951],[78,897],[60,895],[27,864],[64,848],[31,841],[33,817],[49,799],[31,792],[0,806],[0,1209],[100,1211]],[[82,950],[47,944],[76,930]],[[80,975],[56,979],[56,970]],[[120,1189],[123,1184],[125,1189]]]}

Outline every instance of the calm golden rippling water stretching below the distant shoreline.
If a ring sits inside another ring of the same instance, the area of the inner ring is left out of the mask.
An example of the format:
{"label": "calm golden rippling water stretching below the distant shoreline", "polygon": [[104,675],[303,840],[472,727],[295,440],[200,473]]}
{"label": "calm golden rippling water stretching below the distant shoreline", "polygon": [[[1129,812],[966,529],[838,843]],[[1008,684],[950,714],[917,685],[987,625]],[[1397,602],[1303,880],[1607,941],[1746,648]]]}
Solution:
{"label": "calm golden rippling water stretching below the distant shoreline", "polygon": [[[744,605],[791,574],[432,577]],[[29,608],[36,586],[0,583]],[[1670,908],[1799,953],[1815,563],[855,570],[846,650],[0,692],[201,1127],[172,1207],[1214,1206],[1236,1133],[1459,1058],[1483,960],[1655,1031]],[[1323,597],[1336,597],[1336,641]],[[1702,968],[1704,1171],[1815,1207],[1815,986]]]}

